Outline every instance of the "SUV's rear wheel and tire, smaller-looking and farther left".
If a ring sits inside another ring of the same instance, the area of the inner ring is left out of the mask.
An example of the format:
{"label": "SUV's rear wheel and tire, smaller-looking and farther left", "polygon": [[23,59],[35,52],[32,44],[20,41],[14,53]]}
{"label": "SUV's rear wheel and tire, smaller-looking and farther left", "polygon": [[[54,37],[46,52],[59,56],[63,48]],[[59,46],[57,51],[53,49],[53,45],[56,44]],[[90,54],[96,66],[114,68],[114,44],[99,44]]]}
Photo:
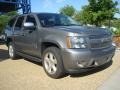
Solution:
{"label": "SUV's rear wheel and tire, smaller-looking and farther left", "polygon": [[12,59],[12,60],[15,60],[17,58],[17,54],[16,54],[16,51],[15,51],[15,47],[13,45],[12,42],[10,42],[8,44],[8,52],[9,52],[9,57]]}

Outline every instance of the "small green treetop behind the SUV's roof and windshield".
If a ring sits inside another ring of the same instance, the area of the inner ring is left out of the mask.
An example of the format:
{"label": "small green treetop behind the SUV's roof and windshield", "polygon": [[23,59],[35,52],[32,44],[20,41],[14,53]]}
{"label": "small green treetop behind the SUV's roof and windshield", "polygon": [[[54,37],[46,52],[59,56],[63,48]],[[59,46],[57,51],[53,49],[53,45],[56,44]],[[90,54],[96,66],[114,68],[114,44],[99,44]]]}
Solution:
{"label": "small green treetop behind the SUV's roof and windshield", "polygon": [[67,5],[60,9],[59,11],[61,14],[68,15],[72,17],[75,13],[75,8],[73,6]]}

